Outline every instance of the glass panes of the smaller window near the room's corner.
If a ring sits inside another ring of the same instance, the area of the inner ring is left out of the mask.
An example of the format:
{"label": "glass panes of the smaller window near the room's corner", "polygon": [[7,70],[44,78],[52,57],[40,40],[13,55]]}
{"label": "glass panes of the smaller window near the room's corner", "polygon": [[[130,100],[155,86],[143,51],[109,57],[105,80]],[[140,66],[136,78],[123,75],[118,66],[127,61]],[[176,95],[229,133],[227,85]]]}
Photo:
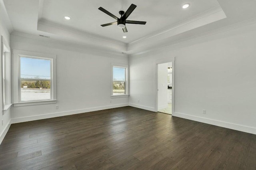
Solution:
{"label": "glass panes of the smaller window near the room's corner", "polygon": [[113,95],[125,95],[125,69],[113,67]]}

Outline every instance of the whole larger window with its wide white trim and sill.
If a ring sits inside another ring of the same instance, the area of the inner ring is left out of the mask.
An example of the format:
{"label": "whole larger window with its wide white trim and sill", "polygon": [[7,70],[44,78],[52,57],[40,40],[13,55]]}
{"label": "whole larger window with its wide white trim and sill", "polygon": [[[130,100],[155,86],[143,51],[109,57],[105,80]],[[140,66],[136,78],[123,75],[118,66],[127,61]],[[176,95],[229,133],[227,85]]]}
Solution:
{"label": "whole larger window with its wide white trim and sill", "polygon": [[14,60],[14,107],[56,103],[56,55],[14,49]]}

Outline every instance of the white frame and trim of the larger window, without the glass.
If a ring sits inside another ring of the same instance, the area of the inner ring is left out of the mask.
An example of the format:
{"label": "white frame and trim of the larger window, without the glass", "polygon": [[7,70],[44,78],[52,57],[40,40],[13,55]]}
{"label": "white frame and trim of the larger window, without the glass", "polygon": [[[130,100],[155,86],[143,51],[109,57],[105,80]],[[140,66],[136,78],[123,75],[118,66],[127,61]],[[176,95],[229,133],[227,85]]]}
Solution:
{"label": "white frame and trim of the larger window, without the glass", "polygon": [[[18,49],[13,49],[14,54],[14,65],[18,65],[18,67],[14,67],[15,76],[14,81],[14,107],[17,106],[27,106],[27,105],[42,105],[42,104],[50,104],[57,103],[56,99],[56,55],[47,54],[47,53],[38,53],[33,51],[23,51]],[[20,57],[34,58],[34,59],[46,59],[51,61],[51,79],[26,79],[26,80],[50,80],[50,99],[45,100],[34,100],[34,101],[21,101],[21,81],[20,78]]]}

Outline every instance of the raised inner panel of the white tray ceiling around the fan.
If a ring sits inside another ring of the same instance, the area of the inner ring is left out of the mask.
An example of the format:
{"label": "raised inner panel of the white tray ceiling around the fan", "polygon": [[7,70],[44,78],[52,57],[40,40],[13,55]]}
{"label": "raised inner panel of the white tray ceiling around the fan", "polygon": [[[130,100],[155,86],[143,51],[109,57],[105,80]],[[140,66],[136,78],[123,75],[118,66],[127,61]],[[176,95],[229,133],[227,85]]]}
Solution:
{"label": "raised inner panel of the white tray ceiling around the fan", "polygon": [[[182,8],[185,2],[191,3],[187,9]],[[100,6],[120,18],[118,12],[126,11],[132,3],[137,7],[128,20],[146,21],[146,25],[126,24],[127,33],[117,25],[100,26],[116,21],[98,10]],[[142,0],[44,0],[42,19],[130,43],[216,6],[219,6],[217,0],[161,0],[161,3],[159,0],[147,0],[146,3]],[[64,16],[70,16],[71,20],[64,19]],[[123,35],[127,38],[122,38]]]}

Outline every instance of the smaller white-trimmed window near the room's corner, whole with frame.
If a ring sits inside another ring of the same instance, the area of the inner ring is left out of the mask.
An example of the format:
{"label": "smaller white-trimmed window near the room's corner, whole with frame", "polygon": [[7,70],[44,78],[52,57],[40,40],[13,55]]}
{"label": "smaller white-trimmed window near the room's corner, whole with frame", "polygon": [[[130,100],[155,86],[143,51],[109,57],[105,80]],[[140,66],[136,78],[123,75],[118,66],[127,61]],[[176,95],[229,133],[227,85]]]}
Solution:
{"label": "smaller white-trimmed window near the room's corner, whole with frame", "polygon": [[112,96],[128,95],[128,65],[112,65]]}

